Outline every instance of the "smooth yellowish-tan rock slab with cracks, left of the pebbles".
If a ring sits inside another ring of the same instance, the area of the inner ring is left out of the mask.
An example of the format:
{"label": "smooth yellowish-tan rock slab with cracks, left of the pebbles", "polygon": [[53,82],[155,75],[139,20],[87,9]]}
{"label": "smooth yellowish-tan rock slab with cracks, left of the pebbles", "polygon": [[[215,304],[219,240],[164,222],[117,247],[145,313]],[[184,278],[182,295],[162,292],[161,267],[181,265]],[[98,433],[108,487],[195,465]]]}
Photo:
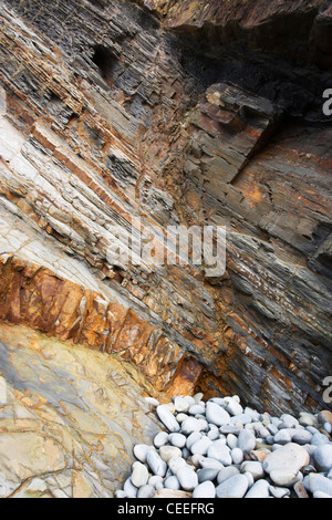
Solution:
{"label": "smooth yellowish-tan rock slab with cracks, left of the pebbles", "polygon": [[115,356],[0,325],[0,497],[111,498],[152,443],[154,388]]}

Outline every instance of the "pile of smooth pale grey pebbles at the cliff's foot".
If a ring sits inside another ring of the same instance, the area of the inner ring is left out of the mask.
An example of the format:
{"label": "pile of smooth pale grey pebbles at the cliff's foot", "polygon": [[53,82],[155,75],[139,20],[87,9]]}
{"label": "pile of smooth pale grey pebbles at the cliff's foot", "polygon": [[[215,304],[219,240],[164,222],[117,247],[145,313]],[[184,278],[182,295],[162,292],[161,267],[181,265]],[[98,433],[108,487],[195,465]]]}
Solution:
{"label": "pile of smooth pale grey pebbles at the cliff's foot", "polygon": [[272,417],[238,396],[146,398],[167,430],[137,459],[117,498],[332,498],[332,413]]}

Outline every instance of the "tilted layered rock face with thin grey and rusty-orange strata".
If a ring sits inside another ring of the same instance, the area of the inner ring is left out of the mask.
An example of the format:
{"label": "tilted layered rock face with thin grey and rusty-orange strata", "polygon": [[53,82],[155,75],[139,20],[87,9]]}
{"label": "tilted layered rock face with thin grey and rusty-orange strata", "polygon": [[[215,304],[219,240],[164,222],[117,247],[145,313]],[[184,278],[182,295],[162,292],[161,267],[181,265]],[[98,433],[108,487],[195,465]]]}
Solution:
{"label": "tilted layered rock face with thin grey and rusty-orange strata", "polygon": [[[170,394],[315,410],[330,8],[204,3],[1,2],[0,318],[117,353]],[[222,277],[180,264],[179,225],[226,226]],[[178,264],[112,261],[135,241]]]}

